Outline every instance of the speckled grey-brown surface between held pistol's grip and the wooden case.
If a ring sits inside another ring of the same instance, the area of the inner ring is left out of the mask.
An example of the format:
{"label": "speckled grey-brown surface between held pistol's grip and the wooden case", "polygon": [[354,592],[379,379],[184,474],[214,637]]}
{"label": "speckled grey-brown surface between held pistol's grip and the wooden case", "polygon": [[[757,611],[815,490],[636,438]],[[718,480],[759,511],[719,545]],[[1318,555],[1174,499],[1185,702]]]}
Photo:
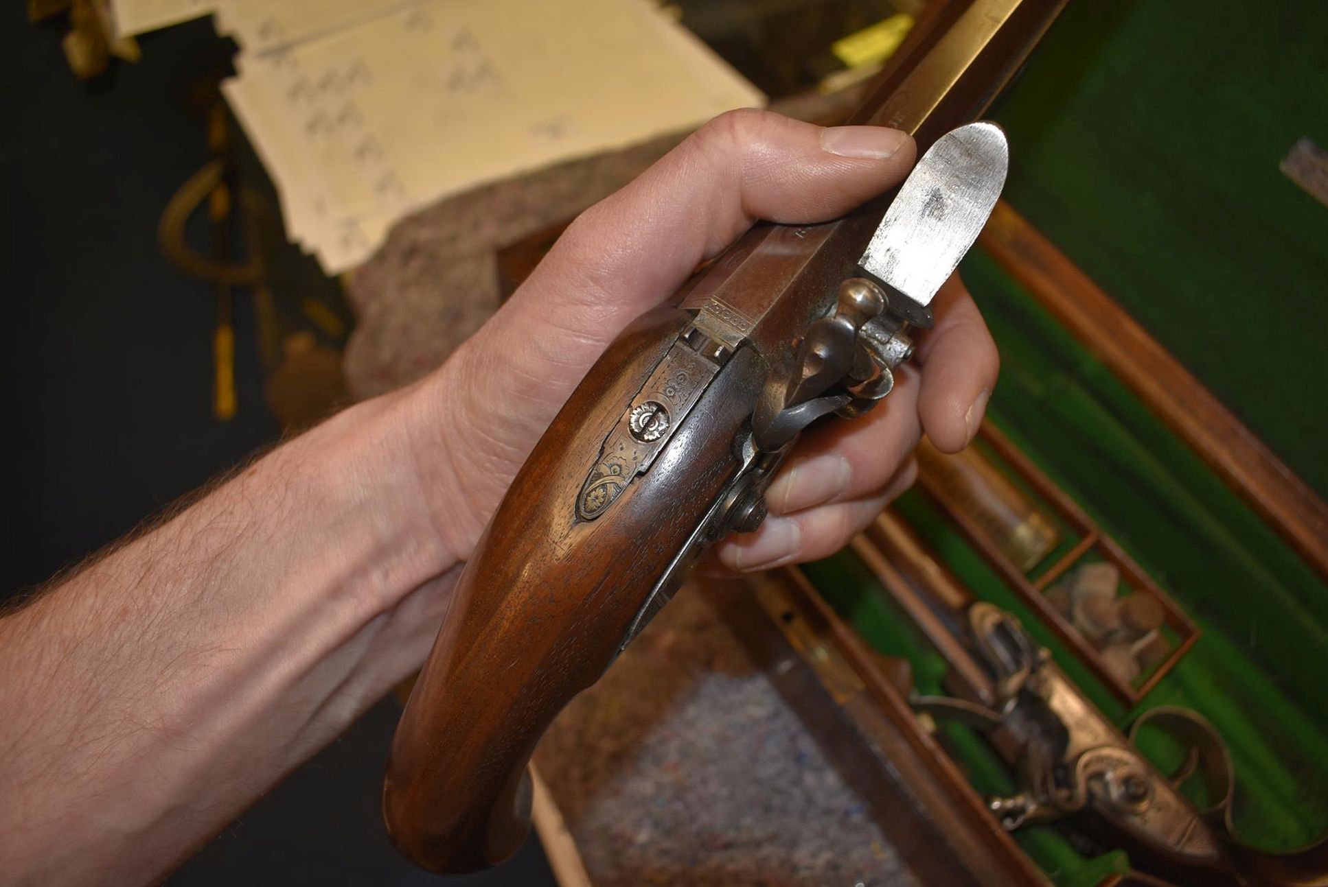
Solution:
{"label": "speckled grey-brown surface between held pistol's grip and the wooden case", "polygon": [[916,883],[691,586],[567,707],[535,762],[596,887]]}

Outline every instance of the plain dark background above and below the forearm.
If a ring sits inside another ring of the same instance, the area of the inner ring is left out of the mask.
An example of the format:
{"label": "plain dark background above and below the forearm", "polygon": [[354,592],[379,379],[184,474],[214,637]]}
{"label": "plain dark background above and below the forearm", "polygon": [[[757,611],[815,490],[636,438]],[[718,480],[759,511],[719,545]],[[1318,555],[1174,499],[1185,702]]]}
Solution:
{"label": "plain dark background above and below the forearm", "polygon": [[[263,406],[255,320],[236,302],[239,414],[211,412],[212,289],[157,249],[171,194],[207,159],[199,84],[234,46],[210,20],[141,38],[138,65],[78,82],[64,25],[4,4],[4,597],[131,530],[279,438]],[[206,233],[197,237],[206,245]],[[534,839],[513,862],[438,879],[388,843],[378,790],[397,705],[232,823],[171,884],[551,884]]]}

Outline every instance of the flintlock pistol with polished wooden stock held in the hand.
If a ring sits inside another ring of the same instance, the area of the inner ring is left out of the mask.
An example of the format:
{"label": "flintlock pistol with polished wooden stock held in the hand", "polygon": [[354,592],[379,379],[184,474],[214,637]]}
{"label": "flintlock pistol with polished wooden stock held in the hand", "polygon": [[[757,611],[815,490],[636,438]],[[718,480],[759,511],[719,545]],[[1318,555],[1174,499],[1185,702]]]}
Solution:
{"label": "flintlock pistol with polished wooden stock held in the hand", "polygon": [[760,525],[806,426],[890,392],[1004,183],[1004,134],[971,121],[1062,3],[924,17],[850,121],[926,151],[898,192],[826,224],[756,225],[591,367],[466,563],[397,728],[382,806],[406,855],[437,871],[511,855],[558,712],[708,545]]}

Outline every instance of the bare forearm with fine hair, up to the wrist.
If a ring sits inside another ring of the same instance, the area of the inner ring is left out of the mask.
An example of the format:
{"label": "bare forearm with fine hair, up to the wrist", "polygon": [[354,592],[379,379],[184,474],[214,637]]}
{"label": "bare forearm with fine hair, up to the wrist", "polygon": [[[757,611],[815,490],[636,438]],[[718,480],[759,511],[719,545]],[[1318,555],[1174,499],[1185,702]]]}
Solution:
{"label": "bare forearm with fine hair, up to the wrist", "polygon": [[418,667],[456,558],[406,412],[341,414],[0,621],[11,875],[159,876]]}

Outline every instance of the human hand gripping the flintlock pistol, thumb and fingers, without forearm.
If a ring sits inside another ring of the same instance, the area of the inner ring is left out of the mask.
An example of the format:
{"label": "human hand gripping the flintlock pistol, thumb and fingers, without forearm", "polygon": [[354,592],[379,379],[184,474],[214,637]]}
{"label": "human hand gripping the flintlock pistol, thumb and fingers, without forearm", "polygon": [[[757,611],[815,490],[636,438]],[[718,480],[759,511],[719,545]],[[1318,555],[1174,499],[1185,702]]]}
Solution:
{"label": "human hand gripping the flintlock pistol, thumb and fingers, without forearm", "polygon": [[[895,130],[733,111],[582,213],[421,387],[432,415],[414,423],[429,430],[414,461],[454,556],[470,556],[535,442],[628,324],[754,220],[834,219],[896,184],[914,156]],[[923,432],[944,451],[967,445],[996,381],[996,347],[957,278],[934,312],[886,406],[803,435],[770,487],[770,517],[717,546],[720,563],[748,571],[825,557],[908,487]]]}

